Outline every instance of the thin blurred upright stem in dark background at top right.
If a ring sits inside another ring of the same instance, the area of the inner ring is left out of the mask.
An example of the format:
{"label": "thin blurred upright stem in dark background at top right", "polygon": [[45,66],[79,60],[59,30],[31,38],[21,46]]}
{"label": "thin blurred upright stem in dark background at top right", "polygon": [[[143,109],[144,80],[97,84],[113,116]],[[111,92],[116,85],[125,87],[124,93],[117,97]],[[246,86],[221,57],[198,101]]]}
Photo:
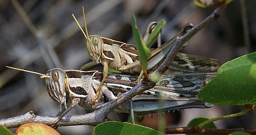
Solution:
{"label": "thin blurred upright stem in dark background at top right", "polygon": [[242,24],[243,24],[244,44],[246,45],[247,53],[251,53],[252,50],[251,50],[251,43],[249,41],[249,26],[248,26],[245,0],[240,0],[240,7],[241,7],[241,17],[242,17]]}

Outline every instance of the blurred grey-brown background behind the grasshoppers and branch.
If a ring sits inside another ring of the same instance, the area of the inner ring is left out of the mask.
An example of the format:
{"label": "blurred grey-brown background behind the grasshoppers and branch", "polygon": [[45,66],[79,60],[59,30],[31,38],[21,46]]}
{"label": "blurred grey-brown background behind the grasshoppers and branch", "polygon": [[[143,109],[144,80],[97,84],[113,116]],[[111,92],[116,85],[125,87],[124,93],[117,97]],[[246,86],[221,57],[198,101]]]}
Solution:
{"label": "blurred grey-brown background behind the grasshoppers and branch", "polygon": [[[18,7],[20,3],[21,7]],[[81,6],[85,6],[89,34],[98,34],[126,43],[132,39],[131,16],[135,14],[138,26],[144,33],[150,21],[165,19],[162,42],[174,36],[180,28],[190,22],[197,25],[214,8],[200,8],[193,1],[156,0],[106,0],[106,1],[0,1],[0,119],[25,114],[33,110],[40,116],[55,116],[59,106],[48,95],[44,80],[37,75],[7,69],[14,66],[39,73],[48,69],[79,69],[90,62],[85,49],[85,38],[79,31],[72,13],[81,25]],[[17,7],[14,8],[14,5]],[[244,43],[240,1],[233,1],[217,21],[196,34],[183,53],[217,58],[221,64],[246,53],[255,51],[256,1],[247,0],[246,10],[251,47]],[[17,10],[23,10],[21,19]],[[25,15],[26,14],[26,15]],[[24,21],[25,20],[25,21]],[[30,23],[31,22],[31,23]],[[26,25],[27,24],[27,25]],[[102,70],[102,66],[92,67]],[[242,110],[236,106],[214,106],[197,110],[182,110],[167,115],[171,127],[184,127],[197,116],[217,117]],[[68,115],[85,114],[81,107]],[[125,116],[111,115],[112,119]],[[216,122],[219,128],[252,128],[256,126],[254,114]],[[146,116],[142,122],[156,121],[155,116]],[[152,125],[154,127],[154,125]],[[93,127],[82,125],[59,127],[61,134],[92,134]]]}

